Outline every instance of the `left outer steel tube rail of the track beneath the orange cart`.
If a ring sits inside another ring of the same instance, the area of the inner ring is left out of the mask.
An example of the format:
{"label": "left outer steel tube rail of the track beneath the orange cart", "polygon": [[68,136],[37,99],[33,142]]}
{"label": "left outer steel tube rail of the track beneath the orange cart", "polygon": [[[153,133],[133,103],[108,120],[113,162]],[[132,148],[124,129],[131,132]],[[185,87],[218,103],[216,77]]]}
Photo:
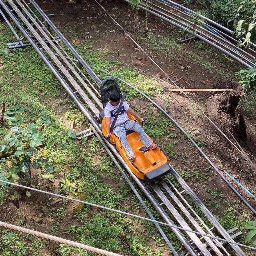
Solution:
{"label": "left outer steel tube rail of the track beneath the orange cart", "polygon": [[[2,0],[0,0],[0,3],[3,5],[4,4],[4,2],[2,1]],[[11,13],[11,12],[10,12]],[[8,13],[9,14],[9,13]],[[10,14],[9,14],[10,15]],[[13,15],[12,13],[11,13],[11,15]],[[10,15],[10,16],[11,16]],[[13,18],[13,17],[12,17]],[[14,17],[15,18],[15,17]],[[18,20],[17,20],[17,22],[18,22]],[[19,23],[19,22],[18,22]],[[21,26],[21,24],[20,24],[20,26]],[[23,28],[24,29],[24,28]],[[25,30],[26,31],[26,30]],[[28,34],[28,38],[30,38],[32,41],[33,41],[33,39],[29,36],[29,34]],[[33,44],[33,46],[34,46],[34,44]],[[34,46],[35,47],[35,46]],[[35,47],[36,48],[36,47]],[[39,49],[39,54],[40,54],[40,56],[42,56],[42,58],[45,60],[45,62],[47,62],[46,64],[49,66],[49,67],[53,67],[53,65],[49,62],[49,60],[46,58],[46,56],[42,53],[42,51],[40,50],[40,48],[36,48],[36,50],[38,51],[38,49]],[[92,123],[92,125],[96,128],[96,130],[100,133],[100,134],[102,134],[101,133],[101,131],[100,131],[100,126],[98,125],[98,123],[96,122],[96,120],[93,118],[93,116],[90,114],[90,112],[85,108],[85,106],[82,104],[82,102],[79,100],[79,98],[75,95],[75,93],[71,90],[71,88],[68,86],[68,84],[64,81],[64,79],[60,76],[60,74],[57,72],[57,70],[54,68],[54,70],[55,70],[55,73],[57,73],[57,75],[56,75],[56,77],[57,78],[61,78],[60,79],[60,82],[62,82],[62,84],[64,85],[64,88],[68,91],[68,93],[70,94],[70,96],[75,100],[75,102],[78,104],[78,106],[79,106],[79,108],[82,110],[82,112],[86,115],[86,117],[88,118],[88,120]],[[54,71],[53,70],[53,71]],[[111,148],[111,146],[110,146],[110,148]],[[133,176],[133,178],[135,178],[135,179],[137,179],[138,180],[138,178],[130,171],[130,169],[128,168],[128,166],[126,165],[126,163],[124,162],[124,160],[122,159],[122,157],[119,155],[119,154],[117,154],[116,153],[116,149],[112,146],[112,151],[114,152],[114,154],[116,154],[116,156],[118,157],[118,159],[122,162],[122,164],[124,165],[124,167],[126,167],[126,169],[128,170],[128,172],[130,173],[130,175],[131,176]],[[145,186],[144,184],[142,184],[142,182],[140,181],[140,180],[138,180],[138,182],[137,182],[137,184],[141,187],[141,188],[143,188],[143,186]],[[190,189],[191,190],[191,189]],[[159,203],[156,201],[156,199],[152,196],[152,194],[151,194],[151,196],[150,196],[150,192],[147,190],[147,188],[146,187],[144,187],[144,191],[149,195],[149,198],[151,198],[150,200],[151,200],[151,202],[154,202],[153,204],[156,206],[156,207],[158,207],[158,211],[160,211],[160,212],[162,212],[162,214],[164,215],[164,214],[166,214],[164,211],[163,211],[163,209],[161,209],[161,207],[160,207],[160,205],[159,205]],[[162,215],[162,216],[163,216]],[[165,218],[166,218],[166,220],[167,221],[169,221],[169,223],[170,223],[170,218],[168,217],[168,215],[166,214],[166,215],[164,215],[165,216]],[[181,239],[182,239],[182,234],[180,233],[180,234],[178,234],[178,238],[180,238],[181,237]],[[184,238],[185,239],[185,238]],[[231,241],[231,240],[230,240]],[[186,246],[188,247],[188,249],[189,250],[191,250],[191,245],[188,243],[188,241],[186,241],[186,239],[185,239],[185,244],[186,244]],[[193,248],[192,248],[192,253],[193,253]],[[194,255],[194,254],[193,254]]]}

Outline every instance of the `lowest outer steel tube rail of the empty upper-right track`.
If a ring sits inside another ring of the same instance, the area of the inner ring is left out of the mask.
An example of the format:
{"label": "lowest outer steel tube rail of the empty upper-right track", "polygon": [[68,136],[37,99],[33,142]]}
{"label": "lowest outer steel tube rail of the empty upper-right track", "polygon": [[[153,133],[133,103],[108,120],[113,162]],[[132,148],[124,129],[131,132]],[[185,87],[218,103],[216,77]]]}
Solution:
{"label": "lowest outer steel tube rail of the empty upper-right track", "polygon": [[[124,0],[126,2],[130,2],[130,0]],[[144,6],[141,6],[139,5],[139,7],[142,9],[142,10],[146,10],[146,8]],[[152,10],[148,10],[149,13],[153,14],[154,16],[157,16],[158,18],[162,19],[162,20],[165,20],[166,22],[178,27],[178,28],[181,28],[183,30],[185,30],[186,32],[188,32],[189,34],[193,34],[191,32],[191,30],[189,30],[188,28],[185,28],[184,26],[172,21],[172,20],[169,20],[168,18],[156,13],[156,12],[153,12]],[[228,56],[230,56],[231,58],[233,58],[234,60],[240,62],[241,64],[243,64],[244,66],[246,66],[247,68],[252,68],[252,66],[246,62],[244,62],[243,60],[241,60],[240,58],[238,58],[237,56],[234,56],[233,54],[231,54],[230,52],[228,52],[227,50],[221,48],[220,46],[212,43],[210,40],[204,38],[203,36],[197,34],[197,33],[194,33],[193,34],[194,36],[196,36],[197,38],[203,40],[204,42],[207,42],[208,44],[210,44],[211,46],[214,46],[215,48],[217,48],[218,50],[224,52],[225,54],[227,54]]]}

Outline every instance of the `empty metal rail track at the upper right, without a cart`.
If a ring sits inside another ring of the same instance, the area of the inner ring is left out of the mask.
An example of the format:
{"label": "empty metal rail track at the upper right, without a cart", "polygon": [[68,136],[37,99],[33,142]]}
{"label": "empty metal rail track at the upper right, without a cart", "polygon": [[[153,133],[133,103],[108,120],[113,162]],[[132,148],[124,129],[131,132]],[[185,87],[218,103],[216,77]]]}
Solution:
{"label": "empty metal rail track at the upper right, without a cart", "polygon": [[[130,2],[129,0],[125,1]],[[252,44],[249,49],[246,49],[244,46],[242,48],[237,47],[237,40],[231,36],[233,32],[220,24],[170,0],[142,0],[139,7],[142,10],[147,8],[148,12],[152,15],[207,42],[247,68],[256,67],[253,62],[256,58],[256,51],[254,50],[256,45]],[[196,24],[195,15],[200,17],[200,24]]]}

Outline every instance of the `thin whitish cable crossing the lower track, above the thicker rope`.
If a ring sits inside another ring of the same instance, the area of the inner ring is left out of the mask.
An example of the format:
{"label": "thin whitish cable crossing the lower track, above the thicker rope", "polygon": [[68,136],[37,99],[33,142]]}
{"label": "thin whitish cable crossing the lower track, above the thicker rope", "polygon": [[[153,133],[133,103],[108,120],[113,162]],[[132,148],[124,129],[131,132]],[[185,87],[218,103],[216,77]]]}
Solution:
{"label": "thin whitish cable crossing the lower track, above the thicker rope", "polygon": [[191,233],[194,233],[194,234],[197,234],[197,235],[200,235],[200,236],[206,236],[208,238],[212,238],[212,239],[215,239],[215,240],[220,240],[222,242],[227,242],[229,244],[235,244],[235,245],[238,245],[238,246],[242,246],[242,247],[245,247],[245,248],[256,250],[256,247],[248,246],[248,245],[245,245],[245,244],[240,244],[240,243],[237,243],[237,242],[228,241],[226,239],[210,236],[210,235],[207,235],[207,234],[202,234],[202,233],[197,232],[197,231],[193,231],[193,230],[189,230],[189,229],[186,229],[186,228],[170,225],[170,224],[158,221],[158,220],[152,220],[152,219],[145,218],[145,217],[142,217],[142,216],[139,216],[139,215],[135,215],[135,214],[132,214],[132,213],[129,213],[129,212],[123,212],[123,211],[120,211],[120,210],[108,208],[106,206],[102,206],[102,205],[98,205],[98,204],[92,204],[92,203],[89,203],[89,202],[86,202],[86,201],[78,200],[78,199],[75,199],[75,198],[69,198],[67,196],[62,196],[62,195],[59,195],[59,194],[54,194],[54,193],[47,192],[47,191],[44,191],[44,190],[39,190],[39,189],[36,189],[36,188],[30,188],[30,187],[27,187],[27,186],[23,186],[23,185],[20,185],[20,184],[15,184],[15,183],[8,182],[8,181],[5,181],[5,180],[0,180],[0,182],[6,183],[6,184],[9,184],[9,185],[13,185],[13,186],[17,186],[17,187],[20,187],[20,188],[25,188],[25,189],[28,189],[28,190],[33,190],[33,191],[40,192],[40,193],[43,193],[43,194],[48,194],[50,196],[56,196],[56,197],[64,198],[64,199],[71,200],[71,201],[74,201],[74,202],[79,202],[79,203],[82,203],[82,204],[87,204],[87,205],[90,205],[90,206],[94,206],[94,207],[97,207],[97,208],[100,208],[100,209],[104,209],[104,210],[109,210],[109,211],[116,212],[116,213],[119,213],[119,214],[128,215],[128,216],[131,216],[131,217],[134,217],[134,218],[138,218],[138,219],[142,219],[142,220],[147,220],[147,221],[150,221],[150,222],[156,222],[158,224],[169,226],[171,228],[177,228],[179,230],[183,230],[183,231],[186,231],[186,232],[191,232]]}

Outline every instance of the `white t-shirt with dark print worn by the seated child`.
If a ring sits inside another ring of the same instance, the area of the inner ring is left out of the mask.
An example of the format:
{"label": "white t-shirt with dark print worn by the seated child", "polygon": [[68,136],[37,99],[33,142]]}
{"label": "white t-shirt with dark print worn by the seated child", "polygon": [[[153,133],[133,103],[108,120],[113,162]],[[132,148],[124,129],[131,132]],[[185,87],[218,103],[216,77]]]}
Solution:
{"label": "white t-shirt with dark print worn by the seated child", "polygon": [[[120,103],[119,103],[120,104]],[[114,121],[114,118],[116,116],[116,113],[118,111],[118,108],[119,108],[119,104],[117,106],[113,106],[110,104],[110,102],[108,102],[108,104],[106,104],[106,107],[104,108],[104,115],[106,117],[110,117],[111,118],[111,124],[112,122]],[[124,101],[123,102],[123,106],[120,110],[120,113],[119,113],[119,116],[116,120],[116,124],[115,126],[118,126],[118,125],[121,125],[123,124],[128,118],[128,115],[126,114],[126,110],[128,110],[129,108],[129,105]],[[110,124],[110,126],[111,126]]]}

